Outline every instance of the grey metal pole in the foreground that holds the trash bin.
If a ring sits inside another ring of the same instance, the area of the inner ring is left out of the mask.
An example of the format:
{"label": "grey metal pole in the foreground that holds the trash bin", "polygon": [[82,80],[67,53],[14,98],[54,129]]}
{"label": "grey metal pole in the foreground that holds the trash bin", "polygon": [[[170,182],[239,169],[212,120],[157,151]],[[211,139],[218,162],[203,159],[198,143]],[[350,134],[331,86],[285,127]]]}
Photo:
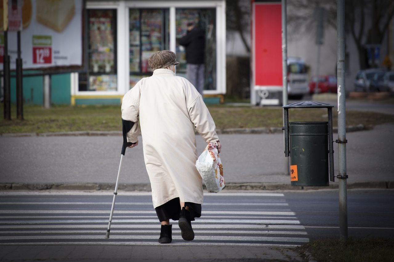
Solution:
{"label": "grey metal pole in the foreground that holds the trash bin", "polygon": [[346,104],[345,104],[345,0],[337,0],[337,81],[338,81],[338,166],[340,240],[348,240],[348,194],[346,175]]}

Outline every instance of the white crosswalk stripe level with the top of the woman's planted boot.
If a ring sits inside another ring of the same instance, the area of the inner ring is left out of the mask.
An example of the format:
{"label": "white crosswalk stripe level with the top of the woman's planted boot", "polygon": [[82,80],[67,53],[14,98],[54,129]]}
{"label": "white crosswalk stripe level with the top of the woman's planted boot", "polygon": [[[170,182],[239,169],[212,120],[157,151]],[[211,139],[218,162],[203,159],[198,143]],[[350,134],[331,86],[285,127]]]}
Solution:
{"label": "white crosswalk stripe level with the top of the woman's planted boot", "polygon": [[[101,228],[101,229],[107,229],[106,226],[103,227],[103,225],[0,225],[0,229],[33,229],[33,228],[39,228],[39,229],[46,229],[46,228],[73,228],[73,229],[78,229],[78,228]],[[117,229],[117,228],[155,228],[155,229],[160,229],[160,224],[156,223],[155,225],[120,225],[120,224],[112,224],[111,225],[111,230],[112,229]],[[255,228],[255,229],[305,229],[303,225],[260,225],[260,224],[253,224],[253,225],[245,225],[245,224],[225,224],[225,225],[210,225],[210,224],[193,224],[193,229],[205,229],[205,228],[240,228],[240,229],[245,229],[245,228]]]}

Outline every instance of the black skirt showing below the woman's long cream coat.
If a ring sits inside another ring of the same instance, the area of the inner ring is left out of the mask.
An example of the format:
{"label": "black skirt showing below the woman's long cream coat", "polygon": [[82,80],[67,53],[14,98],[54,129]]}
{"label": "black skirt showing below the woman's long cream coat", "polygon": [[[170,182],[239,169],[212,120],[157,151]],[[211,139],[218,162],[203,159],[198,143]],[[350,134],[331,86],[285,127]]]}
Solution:
{"label": "black skirt showing below the woman's long cream coat", "polygon": [[[193,221],[194,218],[199,218],[201,216],[201,204],[185,202],[185,206],[189,207],[191,221]],[[156,207],[154,210],[156,210],[156,214],[160,222],[169,219],[179,220],[179,197],[171,199],[167,203]]]}

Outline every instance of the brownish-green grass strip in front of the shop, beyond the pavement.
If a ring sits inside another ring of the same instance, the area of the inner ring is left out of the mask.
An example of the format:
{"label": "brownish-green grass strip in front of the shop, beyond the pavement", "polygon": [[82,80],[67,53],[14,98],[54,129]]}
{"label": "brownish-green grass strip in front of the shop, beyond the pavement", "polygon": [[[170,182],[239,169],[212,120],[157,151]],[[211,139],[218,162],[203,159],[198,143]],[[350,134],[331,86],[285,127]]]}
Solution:
{"label": "brownish-green grass strip in front of the shop, beyond the pavement", "polygon": [[[282,127],[281,107],[235,107],[209,105],[217,129]],[[67,131],[121,131],[120,105],[42,106],[24,105],[24,120],[16,119],[16,107],[11,106],[12,120],[4,120],[0,104],[0,133],[46,133]],[[297,121],[327,121],[327,109],[290,109],[289,119]],[[389,114],[346,111],[346,125],[373,126],[394,122]],[[337,112],[333,111],[333,126]]]}

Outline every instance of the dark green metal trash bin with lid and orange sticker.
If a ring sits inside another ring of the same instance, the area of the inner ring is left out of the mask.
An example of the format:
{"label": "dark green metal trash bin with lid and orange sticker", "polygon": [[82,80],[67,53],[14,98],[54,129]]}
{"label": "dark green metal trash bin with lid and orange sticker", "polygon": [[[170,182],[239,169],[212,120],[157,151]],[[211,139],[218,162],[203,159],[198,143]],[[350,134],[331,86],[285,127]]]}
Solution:
{"label": "dark green metal trash bin with lid and orange sticker", "polygon": [[[332,105],[304,101],[283,106],[284,155],[292,186],[329,186],[334,181]],[[289,122],[289,108],[327,108],[328,122]]]}

